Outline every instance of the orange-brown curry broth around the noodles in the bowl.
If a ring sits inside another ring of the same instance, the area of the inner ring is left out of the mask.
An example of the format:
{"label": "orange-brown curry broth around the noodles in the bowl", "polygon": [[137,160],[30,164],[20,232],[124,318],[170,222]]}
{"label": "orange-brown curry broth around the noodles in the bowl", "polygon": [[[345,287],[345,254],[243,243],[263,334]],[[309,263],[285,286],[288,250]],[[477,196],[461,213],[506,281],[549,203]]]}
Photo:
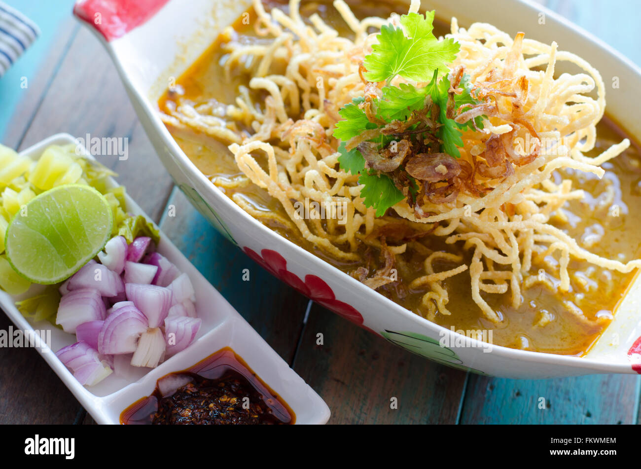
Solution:
{"label": "orange-brown curry broth around the noodles in the bowl", "polygon": [[[333,8],[328,8],[329,5],[331,3],[303,2],[301,16],[306,17],[317,12],[324,21],[331,24],[340,33],[349,35],[346,25]],[[269,8],[270,5],[266,4],[266,6]],[[287,4],[278,3],[278,6],[287,10]],[[361,17],[372,15],[387,17],[392,11],[402,12],[406,8],[404,3],[397,4],[397,8],[394,7],[394,3],[368,3],[365,8],[361,3],[350,2],[350,6],[356,16]],[[250,14],[252,15],[251,20],[253,20],[253,10],[250,10]],[[253,21],[249,21],[249,23],[249,25],[242,24],[239,18],[233,24],[233,28],[238,32],[238,40],[262,41],[263,39],[256,38],[254,34],[251,26]],[[435,26],[437,35],[448,31],[444,23],[437,24],[435,22]],[[176,106],[178,99],[187,100],[196,105],[213,102],[221,105],[221,111],[225,104],[233,103],[238,95],[239,86],[247,86],[251,77],[235,72],[231,79],[226,79],[222,68],[225,53],[221,51],[220,44],[221,38],[212,44],[199,60],[178,79],[173,91],[168,91],[161,97],[158,102],[161,111],[167,109],[167,106]],[[264,99],[264,96],[261,95],[254,97],[258,103]],[[224,116],[222,118],[224,119]],[[185,154],[210,179],[233,179],[243,176],[226,145],[210,136],[192,130],[185,131],[170,127],[170,131]],[[597,127],[597,145],[590,156],[599,154],[611,144],[619,142],[624,136],[626,135],[611,120],[603,119]],[[570,201],[564,206],[563,210],[569,222],[563,222],[563,220],[556,222],[553,220],[553,222],[585,247],[588,247],[585,243],[590,242],[590,236],[596,239],[599,233],[604,233],[603,237],[588,249],[599,256],[628,261],[637,258],[641,253],[640,238],[631,222],[635,218],[641,218],[640,147],[633,142],[627,151],[611,162],[605,163],[603,168],[606,169],[603,180],[590,174],[565,174],[565,177],[570,177],[573,180],[574,188],[585,190],[586,197],[584,201]],[[612,181],[615,195],[613,203],[604,205],[599,194],[604,192],[606,179]],[[252,183],[234,190],[221,187],[221,190],[228,197],[235,193],[241,195],[258,210],[266,213],[281,213],[287,218],[281,204],[273,199],[266,190],[258,188]],[[608,213],[613,204],[619,207],[618,217]],[[360,263],[345,263],[333,259],[297,233],[269,221],[261,221],[281,236],[301,245],[348,274],[360,265]],[[456,251],[461,249],[461,243],[446,247],[443,240],[437,237],[425,238],[424,243],[435,251],[455,251],[457,254],[465,256],[467,261],[470,260],[469,253]],[[376,256],[374,257],[376,258]],[[549,260],[552,263],[556,261],[556,259]],[[410,250],[405,254],[397,255],[399,277],[405,286],[422,274],[423,261],[424,256],[410,252]],[[445,263],[439,266],[438,263],[435,263],[435,267],[437,269],[442,267],[445,270],[454,266]],[[535,284],[522,292],[523,301],[517,309],[512,308],[507,293],[496,295],[482,292],[483,298],[499,313],[499,317],[504,319],[499,324],[485,319],[478,306],[472,301],[469,275],[460,274],[450,277],[444,281],[444,286],[449,292],[448,308],[453,311],[453,315],[437,315],[435,322],[447,328],[454,327],[454,329],[492,329],[492,341],[495,345],[580,356],[590,348],[590,345],[609,323],[608,318],[612,318],[613,312],[624,296],[634,274],[610,272],[592,266],[585,261],[576,260],[570,261],[569,268],[571,272],[569,292],[560,294],[552,292],[542,284]],[[592,277],[586,276],[585,272],[588,274],[592,272]],[[553,282],[558,282],[558,279],[549,278]],[[406,290],[406,288],[402,290]],[[399,292],[399,288],[383,286],[378,291],[411,311],[420,311],[419,304],[424,290],[403,293]],[[585,318],[580,318],[572,313],[571,310],[575,308],[590,321],[587,322]],[[537,325],[542,317],[542,311],[550,313],[553,320],[545,325]],[[601,321],[595,322],[596,318],[601,318]]]}

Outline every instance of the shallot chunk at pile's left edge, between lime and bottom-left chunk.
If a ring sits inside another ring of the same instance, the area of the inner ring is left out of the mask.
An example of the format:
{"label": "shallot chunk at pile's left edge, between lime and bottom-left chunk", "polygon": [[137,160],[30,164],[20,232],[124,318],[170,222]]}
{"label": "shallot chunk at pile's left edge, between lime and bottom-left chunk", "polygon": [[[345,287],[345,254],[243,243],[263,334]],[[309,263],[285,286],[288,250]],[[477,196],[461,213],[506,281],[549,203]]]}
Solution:
{"label": "shallot chunk at pile's left edge, between lime and bottom-left chunk", "polygon": [[105,308],[100,292],[81,288],[67,293],[60,299],[56,324],[67,333],[76,333],[76,327],[88,321],[103,320]]}

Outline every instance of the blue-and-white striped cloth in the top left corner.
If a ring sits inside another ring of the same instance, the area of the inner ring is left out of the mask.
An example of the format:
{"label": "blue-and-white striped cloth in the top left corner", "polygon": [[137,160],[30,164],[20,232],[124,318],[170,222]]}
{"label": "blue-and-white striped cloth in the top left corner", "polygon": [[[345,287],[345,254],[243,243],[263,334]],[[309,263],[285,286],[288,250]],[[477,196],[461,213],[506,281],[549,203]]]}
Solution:
{"label": "blue-and-white striped cloth in the top left corner", "polygon": [[40,35],[38,26],[0,1],[0,77]]}

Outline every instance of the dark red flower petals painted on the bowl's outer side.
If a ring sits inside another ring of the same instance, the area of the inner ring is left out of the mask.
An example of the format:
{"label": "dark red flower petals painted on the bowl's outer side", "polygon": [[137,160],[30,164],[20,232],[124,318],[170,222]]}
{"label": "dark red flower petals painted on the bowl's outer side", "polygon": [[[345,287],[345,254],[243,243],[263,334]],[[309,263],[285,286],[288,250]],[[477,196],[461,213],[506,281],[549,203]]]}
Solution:
{"label": "dark red flower petals painted on the bowl's outer side", "polygon": [[278,252],[272,251],[272,249],[263,249],[260,251],[260,254],[253,251],[253,249],[249,249],[249,247],[244,247],[243,251],[246,252],[247,256],[274,274],[274,276],[287,283],[294,288],[294,290],[297,290],[297,292],[303,293],[303,295],[317,302],[320,306],[331,309],[331,311],[334,311],[340,317],[354,324],[358,324],[367,330],[371,330],[363,326],[361,313],[356,311],[353,306],[337,300],[329,285],[320,277],[306,275],[305,281],[303,282],[296,274],[292,274],[292,272],[287,270],[287,261],[285,258],[278,254]]}

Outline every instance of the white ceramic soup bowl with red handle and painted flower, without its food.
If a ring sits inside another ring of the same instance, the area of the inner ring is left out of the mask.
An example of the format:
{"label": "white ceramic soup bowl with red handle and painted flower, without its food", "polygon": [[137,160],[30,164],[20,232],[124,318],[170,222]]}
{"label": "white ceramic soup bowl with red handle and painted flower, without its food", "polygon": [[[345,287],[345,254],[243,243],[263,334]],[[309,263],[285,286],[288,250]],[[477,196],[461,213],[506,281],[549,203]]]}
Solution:
{"label": "white ceramic soup bowl with red handle and painted flower, without its food", "polygon": [[[385,336],[426,358],[456,368],[503,377],[545,378],[592,373],[635,373],[628,350],[641,334],[635,308],[641,298],[638,282],[619,307],[615,320],[587,356],[577,358],[482,347],[476,340],[465,347],[440,347],[443,338],[456,344],[456,333],[421,318],[370,290],[328,263],[282,238],[241,210],[199,172],[174,142],[158,116],[156,101],[170,80],[178,77],[210,45],[219,32],[249,6],[249,0],[148,1],[153,8],[138,12],[133,0],[80,0],[74,10],[96,33],[112,56],[147,135],[176,184],[221,233],[276,275],[287,270],[304,281],[313,300],[339,315]],[[96,8],[95,5],[99,7]],[[575,51],[604,74],[606,83],[619,76],[620,89],[608,95],[608,113],[641,134],[641,72],[599,40],[538,4],[495,0],[478,8],[476,0],[425,0],[438,17],[456,16],[460,24],[491,22],[508,33],[524,31],[543,42],[556,40],[560,49]],[[133,13],[132,13],[133,10]],[[101,24],[94,19],[101,13]],[[540,24],[544,14],[545,24]],[[471,346],[470,346],[471,345]]]}

